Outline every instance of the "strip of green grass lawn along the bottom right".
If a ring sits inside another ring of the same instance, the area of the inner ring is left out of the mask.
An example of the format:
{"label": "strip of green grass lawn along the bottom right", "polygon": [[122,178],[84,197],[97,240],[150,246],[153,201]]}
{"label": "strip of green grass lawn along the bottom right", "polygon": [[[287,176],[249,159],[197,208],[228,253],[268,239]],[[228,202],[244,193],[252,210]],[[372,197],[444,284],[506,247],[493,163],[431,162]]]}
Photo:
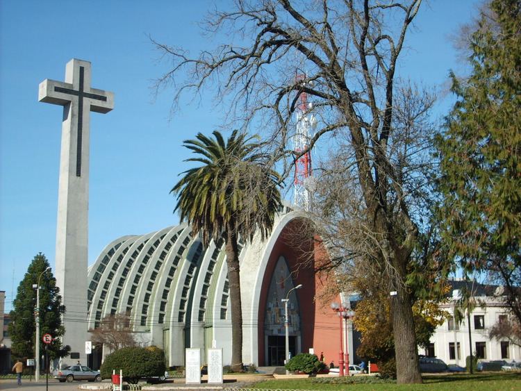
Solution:
{"label": "strip of green grass lawn along the bottom right", "polygon": [[[365,376],[364,376],[365,377]],[[484,374],[447,374],[425,375],[423,384],[397,385],[396,383],[333,383],[340,378],[331,379],[331,383],[320,378],[299,380],[270,380],[256,383],[251,388],[272,390],[449,390],[449,391],[521,391],[521,373],[484,373]],[[362,378],[360,378],[362,380]],[[320,383],[318,383],[320,381]],[[352,381],[355,381],[352,378]]]}

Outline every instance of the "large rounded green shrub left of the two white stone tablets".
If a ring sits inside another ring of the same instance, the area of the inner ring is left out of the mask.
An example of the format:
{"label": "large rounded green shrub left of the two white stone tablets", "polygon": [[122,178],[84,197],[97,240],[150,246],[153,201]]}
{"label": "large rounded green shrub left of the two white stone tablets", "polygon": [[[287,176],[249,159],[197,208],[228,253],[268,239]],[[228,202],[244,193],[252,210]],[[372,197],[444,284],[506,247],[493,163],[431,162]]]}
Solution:
{"label": "large rounded green shrub left of the two white stone tablets", "polygon": [[106,356],[101,365],[101,377],[110,378],[113,369],[129,383],[138,383],[143,377],[165,374],[165,353],[158,347],[124,347]]}

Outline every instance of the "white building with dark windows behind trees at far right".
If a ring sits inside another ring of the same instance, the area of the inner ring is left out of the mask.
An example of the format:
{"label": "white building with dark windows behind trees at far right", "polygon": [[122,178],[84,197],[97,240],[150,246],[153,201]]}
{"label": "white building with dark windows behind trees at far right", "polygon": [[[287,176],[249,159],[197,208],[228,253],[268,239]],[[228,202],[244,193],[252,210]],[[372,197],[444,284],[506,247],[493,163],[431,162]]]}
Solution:
{"label": "white building with dark windows behind trees at far right", "polygon": [[[441,307],[454,315],[454,305],[460,297],[465,281],[452,281],[452,292],[449,301]],[[470,286],[469,286],[470,290]],[[454,322],[454,316],[436,328],[427,349],[420,349],[420,354],[437,357],[447,364],[465,367],[465,358],[474,354],[478,360],[506,360],[508,362],[521,360],[521,347],[511,344],[508,340],[495,340],[488,337],[490,328],[497,322],[508,317],[508,308],[504,304],[502,287],[497,285],[475,284],[472,287],[476,306],[470,313],[470,337],[472,346],[469,348],[468,317],[461,324]]]}

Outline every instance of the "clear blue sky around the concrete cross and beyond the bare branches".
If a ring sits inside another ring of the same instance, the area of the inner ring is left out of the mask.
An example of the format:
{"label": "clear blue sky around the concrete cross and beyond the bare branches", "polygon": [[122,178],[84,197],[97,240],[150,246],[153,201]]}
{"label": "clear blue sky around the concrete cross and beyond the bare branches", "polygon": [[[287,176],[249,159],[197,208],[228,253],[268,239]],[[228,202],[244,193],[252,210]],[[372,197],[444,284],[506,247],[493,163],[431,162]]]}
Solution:
{"label": "clear blue sky around the concrete cross and beyond the bare branches", "polygon": [[[447,85],[449,69],[462,66],[449,36],[479,3],[424,3],[400,73],[433,89]],[[185,169],[182,141],[213,131],[222,110],[204,97],[172,117],[173,91],[151,92],[168,63],[148,37],[195,54],[208,47],[197,22],[211,8],[204,0],[0,0],[0,290],[7,311],[35,254],[54,265],[63,109],[38,103],[39,83],[63,81],[65,64],[79,58],[92,63],[92,88],[115,93],[113,111],[90,116],[90,265],[122,235],[179,222],[169,190]],[[449,104],[441,94],[437,115]]]}

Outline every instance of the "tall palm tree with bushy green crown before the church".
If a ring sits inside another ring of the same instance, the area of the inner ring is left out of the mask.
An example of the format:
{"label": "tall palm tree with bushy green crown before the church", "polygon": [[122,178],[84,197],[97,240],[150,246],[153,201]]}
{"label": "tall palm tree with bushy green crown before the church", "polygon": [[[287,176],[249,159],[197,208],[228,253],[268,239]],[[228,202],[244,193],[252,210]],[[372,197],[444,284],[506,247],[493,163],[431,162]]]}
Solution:
{"label": "tall palm tree with bushy green crown before the church", "polygon": [[181,221],[188,221],[203,242],[224,238],[231,303],[231,367],[242,369],[242,306],[239,276],[239,235],[251,240],[256,232],[265,238],[281,205],[280,176],[265,167],[267,155],[259,153],[256,137],[233,131],[224,142],[218,131],[215,139],[198,133],[197,140],[183,146],[198,156],[185,161],[202,163],[188,169],[171,192],[177,195]]}

